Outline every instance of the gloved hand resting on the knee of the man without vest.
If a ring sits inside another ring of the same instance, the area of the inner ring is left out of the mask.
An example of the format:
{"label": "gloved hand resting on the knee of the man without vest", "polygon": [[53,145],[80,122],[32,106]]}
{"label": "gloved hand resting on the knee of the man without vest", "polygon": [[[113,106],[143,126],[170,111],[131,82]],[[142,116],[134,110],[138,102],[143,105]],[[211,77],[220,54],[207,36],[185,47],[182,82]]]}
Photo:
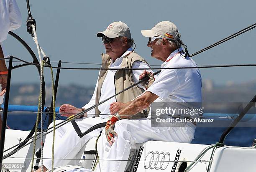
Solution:
{"label": "gloved hand resting on the knee of the man without vest", "polygon": [[112,146],[112,144],[115,142],[114,136],[118,136],[117,133],[114,131],[114,126],[115,126],[115,122],[118,121],[120,119],[120,117],[118,118],[118,116],[115,115],[110,115],[108,116],[108,122],[105,126],[105,135],[107,137],[107,140],[110,144],[110,146]]}

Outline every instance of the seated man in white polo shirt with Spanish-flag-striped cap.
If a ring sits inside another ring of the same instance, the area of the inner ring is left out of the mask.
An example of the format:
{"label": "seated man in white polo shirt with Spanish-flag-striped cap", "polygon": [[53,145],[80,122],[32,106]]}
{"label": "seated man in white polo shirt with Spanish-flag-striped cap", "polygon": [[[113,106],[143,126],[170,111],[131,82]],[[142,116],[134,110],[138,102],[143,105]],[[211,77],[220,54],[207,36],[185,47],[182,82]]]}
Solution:
{"label": "seated man in white polo shirt with Spanish-flag-striped cap", "polygon": [[[147,46],[151,48],[151,56],[164,62],[161,68],[197,67],[191,58],[185,56],[187,53],[181,48],[183,43],[173,23],[163,21],[151,30],[142,30],[141,33],[149,38]],[[148,72],[142,73],[140,78],[146,74]],[[150,117],[132,120],[128,118],[153,102],[201,102],[201,86],[201,74],[198,68],[162,69],[147,91],[125,104],[118,113],[109,116],[103,130],[106,136],[102,134],[100,137],[103,144],[100,144],[98,152],[100,159],[104,160],[100,161],[97,171],[124,172],[127,164],[125,160],[128,160],[130,149],[136,143],[148,140],[191,142],[195,132],[193,122],[172,122],[167,124],[168,127],[151,127]],[[168,114],[164,116],[166,115]],[[107,161],[108,159],[111,161]]]}

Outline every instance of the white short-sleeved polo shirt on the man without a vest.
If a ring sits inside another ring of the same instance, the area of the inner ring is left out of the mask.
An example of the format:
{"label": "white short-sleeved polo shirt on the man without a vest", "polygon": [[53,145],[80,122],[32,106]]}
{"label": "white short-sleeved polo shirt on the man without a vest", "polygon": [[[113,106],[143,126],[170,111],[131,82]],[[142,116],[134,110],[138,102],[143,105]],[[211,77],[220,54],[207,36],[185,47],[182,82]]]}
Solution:
{"label": "white short-sleeved polo shirt on the man without a vest", "polygon": [[[182,48],[179,48],[161,65],[161,68],[174,67],[197,65],[191,58],[184,58]],[[198,68],[162,69],[147,91],[159,96],[154,102],[201,102],[201,87],[202,78]]]}

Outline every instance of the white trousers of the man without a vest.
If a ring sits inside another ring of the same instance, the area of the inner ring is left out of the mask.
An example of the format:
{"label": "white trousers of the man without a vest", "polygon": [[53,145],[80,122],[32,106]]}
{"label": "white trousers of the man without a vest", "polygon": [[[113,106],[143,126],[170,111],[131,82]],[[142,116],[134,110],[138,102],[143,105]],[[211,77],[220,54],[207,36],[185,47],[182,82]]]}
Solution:
{"label": "white trousers of the man without a vest", "polygon": [[[148,140],[190,143],[194,138],[195,126],[192,123],[170,123],[170,127],[151,127],[148,119],[123,119],[115,123],[115,142],[112,146],[105,136],[105,129],[100,136],[98,154],[102,160],[97,165],[97,172],[124,172],[130,149],[133,144],[143,143]],[[115,160],[115,161],[112,161]]]}

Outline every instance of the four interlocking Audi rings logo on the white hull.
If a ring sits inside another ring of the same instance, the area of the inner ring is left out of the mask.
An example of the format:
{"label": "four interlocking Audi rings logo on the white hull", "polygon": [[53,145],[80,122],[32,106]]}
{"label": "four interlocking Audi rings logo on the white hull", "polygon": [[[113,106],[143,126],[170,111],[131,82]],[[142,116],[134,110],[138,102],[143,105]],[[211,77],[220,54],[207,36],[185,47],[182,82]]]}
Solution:
{"label": "four interlocking Audi rings logo on the white hull", "polygon": [[145,169],[161,169],[164,170],[168,167],[168,164],[170,162],[170,153],[169,152],[148,152],[145,161],[144,161],[144,167]]}

